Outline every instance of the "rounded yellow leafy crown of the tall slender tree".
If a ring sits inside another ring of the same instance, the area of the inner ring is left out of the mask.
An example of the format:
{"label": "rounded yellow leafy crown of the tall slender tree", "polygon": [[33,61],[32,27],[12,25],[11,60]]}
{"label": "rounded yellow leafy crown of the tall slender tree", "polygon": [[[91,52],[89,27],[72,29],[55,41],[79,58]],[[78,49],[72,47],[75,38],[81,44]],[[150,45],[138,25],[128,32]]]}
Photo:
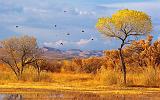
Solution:
{"label": "rounded yellow leafy crown of the tall slender tree", "polygon": [[150,33],[152,30],[151,18],[144,12],[136,10],[119,10],[111,17],[98,19],[97,29],[109,37],[123,37],[127,35]]}

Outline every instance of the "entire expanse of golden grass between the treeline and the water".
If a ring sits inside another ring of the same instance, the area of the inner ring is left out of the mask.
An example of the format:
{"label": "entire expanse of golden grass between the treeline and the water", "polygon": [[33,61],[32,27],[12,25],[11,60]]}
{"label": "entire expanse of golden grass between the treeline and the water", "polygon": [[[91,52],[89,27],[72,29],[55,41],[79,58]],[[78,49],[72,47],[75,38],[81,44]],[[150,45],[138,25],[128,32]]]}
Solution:
{"label": "entire expanse of golden grass between the treeline and the water", "polygon": [[[156,82],[157,80],[152,80],[153,77],[155,76],[151,69],[147,69],[142,73],[127,73],[128,86],[142,87],[123,87],[119,85],[121,74],[105,69],[101,70],[96,76],[94,74],[84,73],[74,74],[42,72],[41,80],[39,82],[37,81],[37,74],[35,69],[26,69],[23,75],[23,80],[21,81],[17,81],[14,74],[10,71],[0,71],[0,92],[21,93],[28,92],[26,91],[26,89],[38,89],[38,91],[36,92],[39,92],[39,90],[58,90],[92,92],[99,94],[144,94],[150,91],[160,91],[160,88],[145,87],[154,85],[148,85],[148,83],[146,83],[150,80],[152,81],[152,83]],[[8,89],[10,91],[8,91]]]}

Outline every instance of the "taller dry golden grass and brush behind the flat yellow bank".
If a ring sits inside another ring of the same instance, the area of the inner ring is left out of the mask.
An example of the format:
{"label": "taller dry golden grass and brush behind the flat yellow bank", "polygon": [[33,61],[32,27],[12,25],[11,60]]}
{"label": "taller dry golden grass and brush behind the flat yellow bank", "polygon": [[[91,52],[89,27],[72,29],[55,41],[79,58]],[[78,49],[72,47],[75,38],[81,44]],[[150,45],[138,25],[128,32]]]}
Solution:
{"label": "taller dry golden grass and brush behind the flat yellow bank", "polygon": [[[128,85],[143,85],[143,86],[160,86],[159,82],[159,70],[155,73],[152,67],[146,68],[143,72],[127,73]],[[78,73],[51,73],[42,72],[40,81],[36,70],[34,68],[27,68],[23,74],[23,82],[48,82],[48,83],[61,83],[70,85],[83,84],[88,86],[94,85],[120,85],[122,84],[122,74],[113,70],[107,70],[102,67],[96,75],[94,74],[78,74]],[[4,83],[16,83],[16,77],[9,69],[0,70],[0,84]]]}

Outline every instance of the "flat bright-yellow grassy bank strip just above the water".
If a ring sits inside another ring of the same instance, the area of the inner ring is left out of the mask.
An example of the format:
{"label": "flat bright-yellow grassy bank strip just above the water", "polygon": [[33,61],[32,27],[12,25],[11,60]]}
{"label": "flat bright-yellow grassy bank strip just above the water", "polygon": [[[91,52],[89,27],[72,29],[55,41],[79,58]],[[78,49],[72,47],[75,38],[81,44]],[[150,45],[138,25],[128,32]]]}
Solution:
{"label": "flat bright-yellow grassy bank strip just above the water", "polygon": [[71,86],[56,83],[8,83],[0,85],[0,93],[49,93],[54,91],[96,94],[149,94],[160,93],[155,87]]}

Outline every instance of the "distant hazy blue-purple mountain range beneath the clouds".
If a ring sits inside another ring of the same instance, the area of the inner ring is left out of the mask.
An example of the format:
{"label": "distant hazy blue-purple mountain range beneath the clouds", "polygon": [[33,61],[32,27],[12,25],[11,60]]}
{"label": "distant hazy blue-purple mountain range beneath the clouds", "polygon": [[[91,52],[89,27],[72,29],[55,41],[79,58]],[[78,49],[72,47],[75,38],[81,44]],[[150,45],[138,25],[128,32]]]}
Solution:
{"label": "distant hazy blue-purple mountain range beneath the clouds", "polygon": [[75,57],[78,58],[88,58],[91,56],[100,57],[103,55],[102,50],[80,50],[80,49],[69,49],[69,50],[60,50],[51,47],[43,47],[44,56],[48,59],[72,59]]}

